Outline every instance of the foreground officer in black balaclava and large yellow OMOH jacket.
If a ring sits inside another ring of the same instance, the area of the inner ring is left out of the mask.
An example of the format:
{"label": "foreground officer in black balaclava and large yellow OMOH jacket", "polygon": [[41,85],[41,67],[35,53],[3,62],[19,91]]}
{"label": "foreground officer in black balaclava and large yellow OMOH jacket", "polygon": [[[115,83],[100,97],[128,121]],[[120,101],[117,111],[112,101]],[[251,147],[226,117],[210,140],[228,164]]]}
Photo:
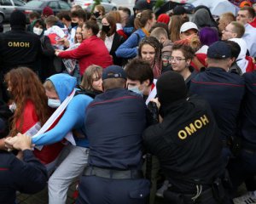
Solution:
{"label": "foreground officer in black balaclava and large yellow OMOH jacket", "polygon": [[163,122],[148,127],[143,141],[169,180],[166,203],[229,203],[219,179],[222,143],[210,106],[197,96],[187,99],[183,77],[173,71],[160,77],[156,89]]}

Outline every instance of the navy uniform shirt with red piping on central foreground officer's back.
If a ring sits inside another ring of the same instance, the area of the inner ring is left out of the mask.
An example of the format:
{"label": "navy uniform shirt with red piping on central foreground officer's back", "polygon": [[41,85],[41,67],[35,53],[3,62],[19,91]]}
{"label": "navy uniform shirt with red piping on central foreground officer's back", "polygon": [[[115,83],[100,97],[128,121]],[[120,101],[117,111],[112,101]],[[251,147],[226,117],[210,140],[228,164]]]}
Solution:
{"label": "navy uniform shirt with red piping on central foreground officer's back", "polygon": [[138,169],[145,127],[146,105],[142,97],[125,88],[97,95],[85,118],[90,166]]}

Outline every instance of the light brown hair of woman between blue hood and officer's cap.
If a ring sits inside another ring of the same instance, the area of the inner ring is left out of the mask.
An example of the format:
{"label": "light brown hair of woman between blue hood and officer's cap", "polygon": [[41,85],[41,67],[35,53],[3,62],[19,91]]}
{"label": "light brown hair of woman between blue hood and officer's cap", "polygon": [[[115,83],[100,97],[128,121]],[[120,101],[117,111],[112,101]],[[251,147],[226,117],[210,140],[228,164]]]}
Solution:
{"label": "light brown hair of woman between blue hood and officer's cap", "polygon": [[93,83],[93,75],[96,74],[97,78],[102,78],[102,67],[99,65],[90,65],[84,71],[82,82],[80,83],[80,87],[94,91],[92,87]]}

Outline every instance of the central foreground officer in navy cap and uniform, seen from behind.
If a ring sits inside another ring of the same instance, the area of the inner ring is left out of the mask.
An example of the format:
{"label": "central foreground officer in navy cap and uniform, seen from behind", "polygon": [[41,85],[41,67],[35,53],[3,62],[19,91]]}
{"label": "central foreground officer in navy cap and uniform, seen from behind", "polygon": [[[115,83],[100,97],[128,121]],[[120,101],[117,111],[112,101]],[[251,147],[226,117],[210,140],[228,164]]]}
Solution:
{"label": "central foreground officer in navy cap and uniform, seen from behind", "polygon": [[149,182],[143,178],[142,133],[146,127],[143,98],[125,89],[125,71],[108,66],[104,93],[85,113],[89,167],[79,183],[79,204],[146,203]]}

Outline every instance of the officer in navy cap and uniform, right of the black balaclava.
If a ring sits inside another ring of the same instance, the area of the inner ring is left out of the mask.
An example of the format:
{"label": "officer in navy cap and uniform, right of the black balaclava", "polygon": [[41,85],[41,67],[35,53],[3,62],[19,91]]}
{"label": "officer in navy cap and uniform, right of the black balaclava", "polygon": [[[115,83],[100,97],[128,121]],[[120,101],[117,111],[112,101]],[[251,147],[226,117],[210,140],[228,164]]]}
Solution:
{"label": "officer in navy cap and uniform, right of the black balaclava", "polygon": [[206,71],[198,73],[189,88],[191,94],[200,95],[211,105],[224,144],[224,165],[231,156],[230,145],[237,133],[245,91],[243,78],[228,72],[232,63],[230,57],[230,46],[226,42],[214,42],[207,50]]}

